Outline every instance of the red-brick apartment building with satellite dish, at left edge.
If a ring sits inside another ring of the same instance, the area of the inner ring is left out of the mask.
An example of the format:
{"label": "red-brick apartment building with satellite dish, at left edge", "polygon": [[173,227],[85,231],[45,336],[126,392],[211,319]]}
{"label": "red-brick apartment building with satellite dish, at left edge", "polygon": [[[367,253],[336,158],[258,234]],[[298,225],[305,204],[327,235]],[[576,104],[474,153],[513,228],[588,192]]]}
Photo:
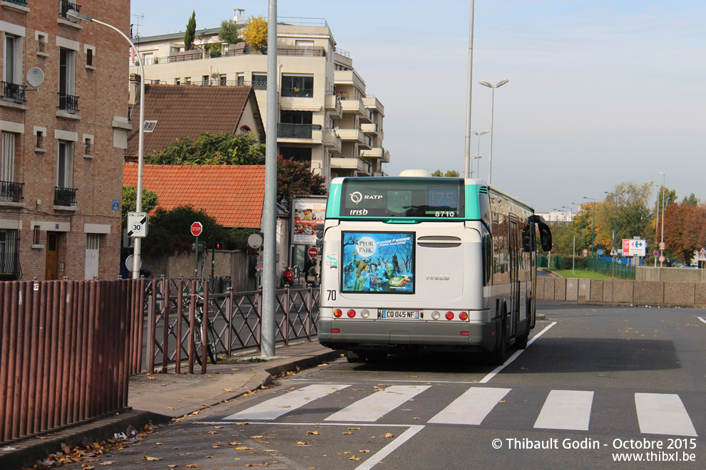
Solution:
{"label": "red-brick apartment building with satellite dish, at left edge", "polygon": [[130,1],[0,0],[0,280],[115,278]]}

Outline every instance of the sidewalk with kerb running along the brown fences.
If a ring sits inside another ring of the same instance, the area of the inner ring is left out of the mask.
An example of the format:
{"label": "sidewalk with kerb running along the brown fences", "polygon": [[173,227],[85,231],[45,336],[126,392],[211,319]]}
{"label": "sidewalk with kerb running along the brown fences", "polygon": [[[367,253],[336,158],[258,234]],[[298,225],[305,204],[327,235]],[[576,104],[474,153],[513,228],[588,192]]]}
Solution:
{"label": "sidewalk with kerb running along the brown fences", "polygon": [[[26,439],[9,445],[12,450],[1,450],[0,469],[31,467],[37,460],[61,451],[61,444],[72,447],[81,442],[111,439],[128,427],[141,429],[152,422],[163,424],[201,409],[213,407],[225,400],[243,395],[262,385],[270,385],[272,377],[294,372],[334,360],[343,352],[324,348],[314,340],[283,346],[275,350],[275,357],[265,362],[248,362],[252,356],[221,361],[207,366],[207,373],[174,375],[140,374],[130,378],[126,412],[96,419],[88,424],[64,429],[41,438]],[[194,370],[200,366],[194,365]],[[182,370],[185,370],[183,368]]]}

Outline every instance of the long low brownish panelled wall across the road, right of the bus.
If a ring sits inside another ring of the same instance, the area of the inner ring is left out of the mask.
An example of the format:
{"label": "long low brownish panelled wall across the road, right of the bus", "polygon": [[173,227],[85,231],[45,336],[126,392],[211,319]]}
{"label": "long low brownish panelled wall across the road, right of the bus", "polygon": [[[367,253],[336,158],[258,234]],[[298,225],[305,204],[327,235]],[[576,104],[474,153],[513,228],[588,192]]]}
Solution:
{"label": "long low brownish panelled wall across the road, right of the bus", "polygon": [[537,278],[536,295],[568,302],[706,305],[706,283]]}

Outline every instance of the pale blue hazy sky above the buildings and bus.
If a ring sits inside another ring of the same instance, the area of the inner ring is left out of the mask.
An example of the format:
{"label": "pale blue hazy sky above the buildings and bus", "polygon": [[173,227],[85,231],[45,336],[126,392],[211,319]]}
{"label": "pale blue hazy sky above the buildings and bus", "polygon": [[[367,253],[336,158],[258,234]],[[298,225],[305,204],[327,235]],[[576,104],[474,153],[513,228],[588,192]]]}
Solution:
{"label": "pale blue hazy sky above the buildings and bus", "polygon": [[[385,108],[385,172],[463,174],[470,4],[279,0],[277,16],[326,19],[350,53]],[[132,0],[131,21],[140,36],[174,33],[195,11],[197,28],[217,28],[234,8],[268,16],[266,0]],[[493,106],[478,82],[504,79]],[[471,129],[490,130],[494,108],[492,184],[537,211],[621,182],[706,201],[706,2],[475,1],[472,80]],[[477,139],[488,181],[491,134]]]}

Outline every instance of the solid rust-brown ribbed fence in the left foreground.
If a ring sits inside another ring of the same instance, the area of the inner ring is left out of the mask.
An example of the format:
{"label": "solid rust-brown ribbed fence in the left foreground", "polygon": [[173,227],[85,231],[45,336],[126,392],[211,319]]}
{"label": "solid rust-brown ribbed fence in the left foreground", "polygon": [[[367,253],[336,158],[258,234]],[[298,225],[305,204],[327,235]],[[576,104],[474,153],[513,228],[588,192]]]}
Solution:
{"label": "solid rust-brown ribbed fence in the left foreground", "polygon": [[127,407],[140,282],[0,283],[0,442]]}

